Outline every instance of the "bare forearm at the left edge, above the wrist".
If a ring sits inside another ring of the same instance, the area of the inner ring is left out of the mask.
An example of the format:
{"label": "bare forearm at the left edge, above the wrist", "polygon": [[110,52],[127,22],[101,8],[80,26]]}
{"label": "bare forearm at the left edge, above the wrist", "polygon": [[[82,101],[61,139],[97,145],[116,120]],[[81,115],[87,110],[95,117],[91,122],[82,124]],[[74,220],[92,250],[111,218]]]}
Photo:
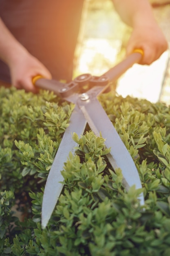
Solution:
{"label": "bare forearm at the left edge, above the wrist", "polygon": [[18,54],[26,53],[26,49],[15,39],[0,18],[0,58],[7,65],[15,63]]}

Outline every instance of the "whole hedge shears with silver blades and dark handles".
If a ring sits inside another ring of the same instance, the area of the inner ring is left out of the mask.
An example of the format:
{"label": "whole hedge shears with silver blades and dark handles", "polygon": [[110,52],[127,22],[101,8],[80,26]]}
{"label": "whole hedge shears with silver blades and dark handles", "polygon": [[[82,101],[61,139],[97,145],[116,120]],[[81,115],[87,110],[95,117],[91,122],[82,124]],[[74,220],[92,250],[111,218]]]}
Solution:
{"label": "whole hedge shears with silver blades and dark handles", "polygon": [[[117,80],[119,76],[134,63],[139,63],[142,56],[143,51],[137,49],[102,76],[82,74],[77,76],[70,83],[48,80],[42,78],[42,76],[35,76],[35,78],[33,78],[33,84],[36,87],[51,90],[64,100],[75,104],[75,108],[70,117],[69,126],[64,132],[46,180],[42,202],[43,229],[48,224],[62,191],[64,178],[62,177],[61,171],[64,167],[64,162],[67,161],[70,152],[75,154],[74,151],[77,144],[73,141],[72,134],[75,132],[81,137],[87,123],[96,136],[100,137],[102,135],[102,137],[106,139],[106,148],[110,148],[110,153],[107,155],[108,160],[113,169],[121,169],[125,189],[128,191],[134,184],[136,189],[142,187],[137,168],[130,153],[97,100],[97,96],[108,88],[110,82]],[[88,90],[84,89],[87,84]],[[141,205],[144,205],[143,193],[139,195],[139,202]]]}

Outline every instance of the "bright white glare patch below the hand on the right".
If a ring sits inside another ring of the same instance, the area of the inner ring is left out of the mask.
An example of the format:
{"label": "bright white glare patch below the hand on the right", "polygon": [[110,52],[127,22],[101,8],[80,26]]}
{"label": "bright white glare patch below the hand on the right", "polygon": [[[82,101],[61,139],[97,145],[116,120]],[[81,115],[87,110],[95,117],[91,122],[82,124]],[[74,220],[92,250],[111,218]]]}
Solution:
{"label": "bright white glare patch below the hand on the right", "polygon": [[117,84],[117,93],[126,97],[147,99],[152,103],[160,100],[161,90],[166,67],[168,64],[169,51],[151,65],[135,64],[122,77]]}

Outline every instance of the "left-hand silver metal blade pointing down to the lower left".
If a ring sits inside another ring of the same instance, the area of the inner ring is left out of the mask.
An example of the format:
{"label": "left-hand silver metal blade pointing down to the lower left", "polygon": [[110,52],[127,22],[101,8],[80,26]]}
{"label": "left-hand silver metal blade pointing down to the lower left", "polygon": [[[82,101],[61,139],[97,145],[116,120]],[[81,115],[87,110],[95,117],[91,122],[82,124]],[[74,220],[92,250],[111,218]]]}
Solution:
{"label": "left-hand silver metal blade pointing down to the lower left", "polygon": [[[77,120],[77,122],[75,122],[75,120]],[[66,162],[69,152],[74,154],[74,148],[77,146],[77,143],[71,139],[71,134],[76,132],[78,136],[82,135],[86,123],[87,121],[84,118],[82,111],[78,106],[75,106],[71,115],[70,124],[64,132],[60,147],[57,150],[57,154],[55,155],[55,159],[46,180],[42,201],[42,228],[45,228],[49,222],[55,204],[62,191],[63,185],[60,182],[64,181],[61,174],[64,162]]]}

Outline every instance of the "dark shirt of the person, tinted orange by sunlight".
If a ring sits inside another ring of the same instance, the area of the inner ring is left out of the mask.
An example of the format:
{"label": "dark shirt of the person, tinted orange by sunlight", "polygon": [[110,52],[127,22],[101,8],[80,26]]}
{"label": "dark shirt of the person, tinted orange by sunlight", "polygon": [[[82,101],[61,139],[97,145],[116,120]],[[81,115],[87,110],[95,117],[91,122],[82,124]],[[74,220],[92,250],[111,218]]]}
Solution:
{"label": "dark shirt of the person, tinted orange by sunlight", "polygon": [[[0,17],[53,79],[70,81],[82,6],[83,0],[0,0]],[[0,80],[11,81],[2,61]]]}

